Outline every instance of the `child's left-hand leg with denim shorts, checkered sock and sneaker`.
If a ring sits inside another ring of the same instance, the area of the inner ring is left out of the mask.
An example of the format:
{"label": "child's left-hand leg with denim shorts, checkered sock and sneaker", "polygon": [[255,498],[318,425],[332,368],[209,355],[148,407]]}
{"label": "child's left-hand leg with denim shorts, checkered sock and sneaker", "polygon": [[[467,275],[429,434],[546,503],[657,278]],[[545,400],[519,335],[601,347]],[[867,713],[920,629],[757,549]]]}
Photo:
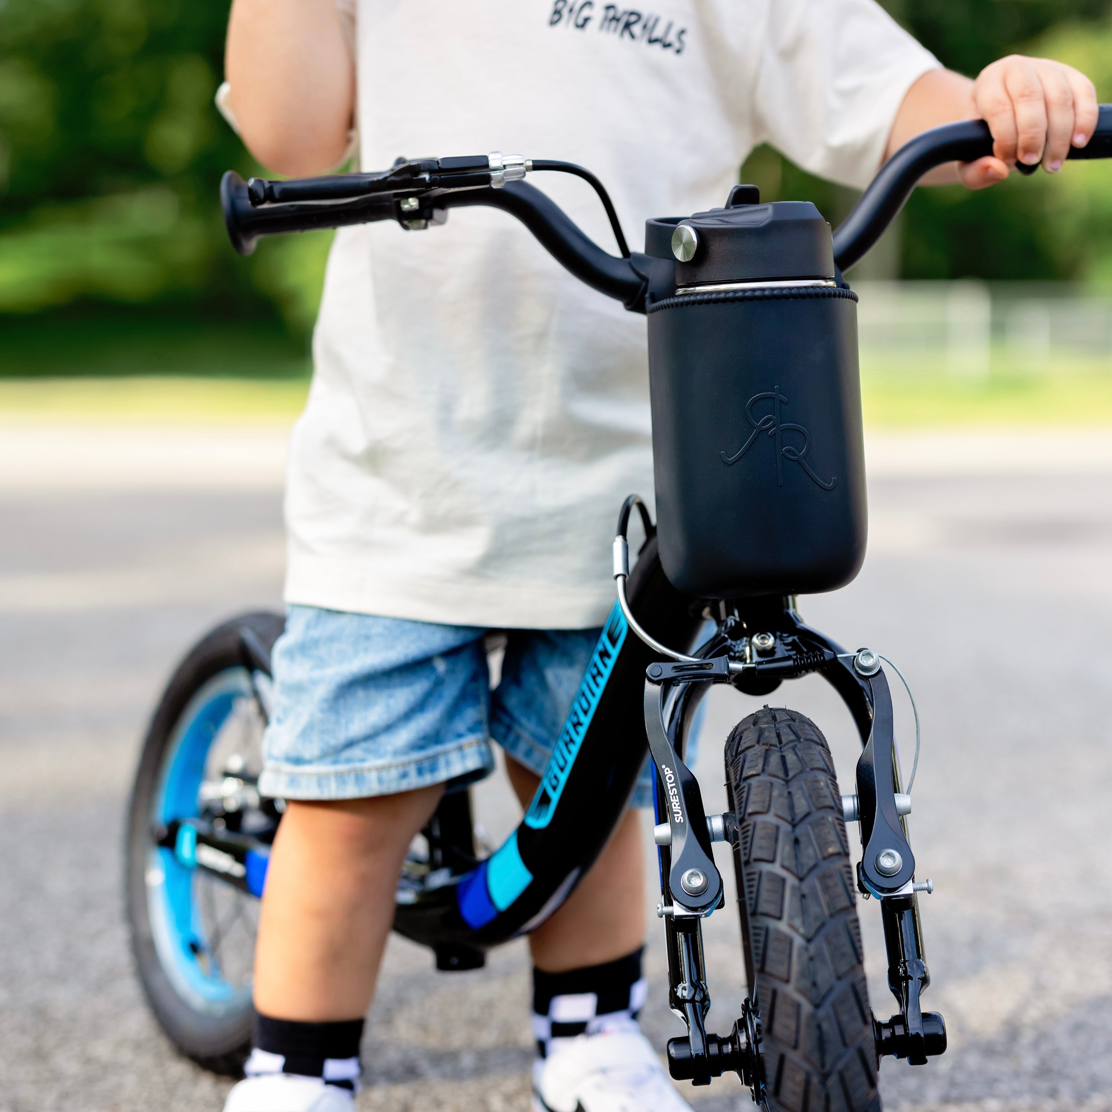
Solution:
{"label": "child's left-hand leg with denim shorts, checkered sock and sneaker", "polygon": [[256,949],[255,1049],[226,1112],[351,1112],[401,862],[481,776],[483,631],[291,606],[259,790],[287,801]]}

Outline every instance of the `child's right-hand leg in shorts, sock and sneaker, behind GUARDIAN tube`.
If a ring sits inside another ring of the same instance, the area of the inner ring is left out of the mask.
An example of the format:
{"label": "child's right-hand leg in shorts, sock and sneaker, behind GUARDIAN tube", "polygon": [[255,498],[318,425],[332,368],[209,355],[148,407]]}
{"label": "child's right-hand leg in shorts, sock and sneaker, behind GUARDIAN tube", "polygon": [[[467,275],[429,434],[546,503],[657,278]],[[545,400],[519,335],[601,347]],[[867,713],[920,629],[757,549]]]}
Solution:
{"label": "child's right-hand leg in shorts, sock and sneaker, behind GUARDIAN tube", "polygon": [[[523,806],[539,783],[597,641],[592,631],[513,631],[493,696],[492,734]],[[691,1112],[642,1033],[647,982],[645,844],[633,806],[563,906],[529,935],[533,951],[534,1109],[537,1112]]]}

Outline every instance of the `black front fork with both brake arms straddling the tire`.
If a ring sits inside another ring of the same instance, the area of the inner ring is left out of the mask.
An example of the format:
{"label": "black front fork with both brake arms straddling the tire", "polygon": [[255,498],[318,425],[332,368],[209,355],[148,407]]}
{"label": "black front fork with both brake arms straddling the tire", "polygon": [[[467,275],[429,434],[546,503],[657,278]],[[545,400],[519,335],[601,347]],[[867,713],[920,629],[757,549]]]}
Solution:
{"label": "black front fork with both brake arms straddling the tire", "polygon": [[[686,732],[709,684],[733,683],[749,694],[765,694],[781,681],[811,672],[824,676],[850,708],[864,743],[857,762],[857,794],[843,797],[847,821],[861,823],[862,861],[857,888],[881,903],[888,957],[888,987],[900,1012],[873,1021],[876,1053],[922,1065],[946,1049],[945,1022],[923,1012],[920,997],[931,983],[923,959],[915,857],[901,813],[892,697],[880,657],[868,649],[846,653],[805,626],[794,600],[770,599],[722,605],[718,632],[698,662],[656,663],[645,674],[645,729],[657,768],[655,837],[661,865],[662,902],[668,957],[668,1003],[687,1024],[685,1037],[668,1041],[668,1069],[677,1080],[707,1085],[734,1071],[764,1103],[761,1019],[756,1001],[746,1000],[728,1035],[706,1030],[711,995],[703,960],[702,921],[724,905],[722,875],[712,843],[728,842],[739,853],[733,811],[707,818],[698,782],[684,764]],[[907,797],[902,796],[905,801]],[[731,806],[733,803],[731,801]],[[739,856],[737,857],[739,861]],[[744,895],[739,895],[744,898]],[[753,985],[749,985],[753,994]]]}

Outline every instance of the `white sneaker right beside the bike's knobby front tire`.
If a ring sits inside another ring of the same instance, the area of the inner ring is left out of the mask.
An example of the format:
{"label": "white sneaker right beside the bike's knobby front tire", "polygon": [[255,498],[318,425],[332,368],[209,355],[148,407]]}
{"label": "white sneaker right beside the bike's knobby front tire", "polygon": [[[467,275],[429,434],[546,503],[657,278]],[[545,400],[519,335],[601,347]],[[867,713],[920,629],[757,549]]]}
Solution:
{"label": "white sneaker right beside the bike's knobby front tire", "polygon": [[639,1031],[580,1035],[538,1061],[533,1108],[535,1112],[692,1112]]}

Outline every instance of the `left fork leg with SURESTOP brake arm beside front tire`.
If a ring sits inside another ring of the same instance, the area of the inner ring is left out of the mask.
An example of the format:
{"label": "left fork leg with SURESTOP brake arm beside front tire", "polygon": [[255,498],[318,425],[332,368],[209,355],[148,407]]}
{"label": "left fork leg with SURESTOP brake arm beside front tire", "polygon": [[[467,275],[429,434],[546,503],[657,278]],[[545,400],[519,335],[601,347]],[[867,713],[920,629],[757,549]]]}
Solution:
{"label": "left fork leg with SURESTOP brake arm beside front tire", "polygon": [[668,1003],[687,1024],[686,1037],[668,1040],[668,1070],[677,1081],[696,1085],[708,1085],[712,1078],[734,1071],[759,1104],[764,1099],[761,1035],[752,1003],[745,1002],[728,1035],[706,1030],[711,995],[703,963],[703,917],[723,906],[722,875],[711,844],[736,838],[733,815],[707,821],[698,782],[675,744],[694,685],[728,682],[725,656],[651,664],[645,674],[645,729],[667,814],[667,823],[657,826],[655,835],[661,846],[664,902],[657,911],[667,933]]}

